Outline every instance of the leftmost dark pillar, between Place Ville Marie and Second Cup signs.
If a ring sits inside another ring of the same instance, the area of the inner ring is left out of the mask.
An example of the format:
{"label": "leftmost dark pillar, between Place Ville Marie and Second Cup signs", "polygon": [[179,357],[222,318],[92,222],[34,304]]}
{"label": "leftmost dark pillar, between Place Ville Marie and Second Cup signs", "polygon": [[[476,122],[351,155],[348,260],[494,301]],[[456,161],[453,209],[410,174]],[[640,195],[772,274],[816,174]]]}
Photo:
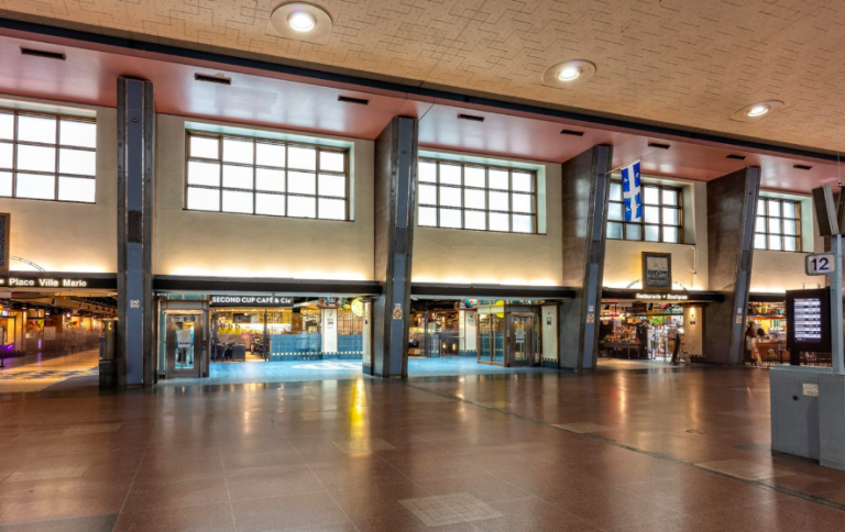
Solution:
{"label": "leftmost dark pillar, between Place Ville Marie and Second Cup signs", "polygon": [[118,379],[151,386],[153,337],[153,84],[118,78]]}

